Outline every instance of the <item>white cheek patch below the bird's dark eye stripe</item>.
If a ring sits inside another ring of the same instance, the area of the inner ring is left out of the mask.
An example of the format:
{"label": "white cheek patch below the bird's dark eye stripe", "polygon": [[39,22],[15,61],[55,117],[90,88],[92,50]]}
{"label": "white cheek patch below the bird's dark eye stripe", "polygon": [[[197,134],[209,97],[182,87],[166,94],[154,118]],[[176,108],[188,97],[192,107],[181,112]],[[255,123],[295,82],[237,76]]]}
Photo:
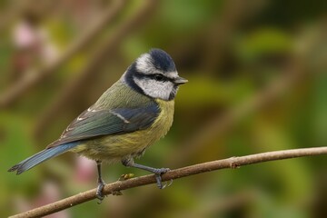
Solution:
{"label": "white cheek patch below the bird's dark eye stripe", "polygon": [[173,92],[174,85],[169,81],[159,82],[153,79],[134,77],[134,82],[144,91],[144,94],[154,98],[169,100],[170,94]]}

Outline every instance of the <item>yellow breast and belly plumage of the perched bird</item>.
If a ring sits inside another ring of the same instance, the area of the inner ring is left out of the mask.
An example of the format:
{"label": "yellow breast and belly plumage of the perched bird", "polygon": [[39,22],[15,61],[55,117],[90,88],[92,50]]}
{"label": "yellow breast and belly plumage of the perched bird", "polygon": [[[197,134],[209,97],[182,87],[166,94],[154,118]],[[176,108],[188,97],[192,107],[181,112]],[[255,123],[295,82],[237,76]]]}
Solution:
{"label": "yellow breast and belly plumage of the perched bird", "polygon": [[124,156],[139,156],[148,146],[154,144],[173,124],[174,102],[155,100],[161,109],[154,124],[145,130],[129,134],[106,135],[85,142],[76,147],[74,152],[94,160],[120,161]]}

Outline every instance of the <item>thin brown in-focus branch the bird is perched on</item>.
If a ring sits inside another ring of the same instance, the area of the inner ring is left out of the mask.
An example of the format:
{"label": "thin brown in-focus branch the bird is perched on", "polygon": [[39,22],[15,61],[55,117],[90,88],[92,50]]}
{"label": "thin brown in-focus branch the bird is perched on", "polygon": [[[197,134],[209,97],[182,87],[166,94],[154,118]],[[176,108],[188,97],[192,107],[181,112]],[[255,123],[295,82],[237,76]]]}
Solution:
{"label": "thin brown in-focus branch the bird is perched on", "polygon": [[[167,173],[164,173],[162,178],[163,181],[170,181],[173,179],[179,179],[193,174],[211,172],[220,169],[226,169],[226,168],[237,169],[240,166],[249,165],[253,163],[263,163],[269,161],[277,161],[277,160],[283,160],[283,159],[289,159],[295,157],[313,156],[313,155],[320,155],[320,154],[327,154],[327,146],[282,150],[282,151],[267,152],[261,154],[251,154],[251,155],[240,156],[240,157],[231,157],[231,158],[217,160],[213,162],[199,163],[199,164],[171,170]],[[122,190],[131,189],[134,187],[143,186],[150,183],[156,183],[154,175],[144,175],[126,181],[109,183],[104,186],[104,194],[111,194],[114,192],[119,192]],[[15,214],[14,216],[11,217],[12,218],[39,217],[39,216],[45,216],[48,214],[56,213],[66,208],[72,207],[74,205],[88,202],[95,199],[96,198],[95,192],[96,189],[92,189],[84,193],[78,193],[75,194],[74,196],[65,198],[58,202],[49,203],[45,206],[35,208],[25,213]]]}

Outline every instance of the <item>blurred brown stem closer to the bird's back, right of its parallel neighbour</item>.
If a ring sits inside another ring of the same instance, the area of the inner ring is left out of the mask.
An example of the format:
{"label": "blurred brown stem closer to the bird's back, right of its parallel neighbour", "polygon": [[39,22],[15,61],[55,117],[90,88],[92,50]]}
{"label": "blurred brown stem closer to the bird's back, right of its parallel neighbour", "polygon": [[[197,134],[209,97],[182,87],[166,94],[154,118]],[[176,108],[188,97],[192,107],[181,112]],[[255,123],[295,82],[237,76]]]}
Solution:
{"label": "blurred brown stem closer to the bird's back, right of its parallel neighbour", "polygon": [[90,80],[94,78],[95,74],[101,73],[100,68],[106,63],[105,60],[110,56],[116,54],[116,49],[120,45],[126,36],[130,35],[132,31],[137,29],[140,25],[144,24],[144,21],[149,18],[149,15],[154,12],[154,7],[157,5],[156,1],[148,0],[144,1],[144,4],[140,6],[122,25],[119,25],[115,29],[111,38],[106,40],[104,45],[94,54],[94,58],[89,64],[85,66],[83,71],[78,74],[76,78],[73,78],[71,82],[63,88],[62,92],[58,94],[57,99],[50,105],[49,109],[40,116],[39,122],[35,127],[35,135],[40,135],[44,131],[45,126],[56,117],[57,111],[71,101],[72,98],[76,98],[74,94],[79,93],[81,89],[84,89],[86,84],[89,84]]}

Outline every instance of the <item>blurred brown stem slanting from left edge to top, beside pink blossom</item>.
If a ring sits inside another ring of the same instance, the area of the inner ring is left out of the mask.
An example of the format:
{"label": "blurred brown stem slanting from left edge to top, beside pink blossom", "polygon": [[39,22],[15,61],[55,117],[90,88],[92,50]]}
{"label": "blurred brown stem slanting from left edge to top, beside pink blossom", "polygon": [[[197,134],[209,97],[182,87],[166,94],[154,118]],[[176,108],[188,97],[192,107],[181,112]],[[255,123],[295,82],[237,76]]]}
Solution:
{"label": "blurred brown stem slanting from left edge to top, beside pink blossom", "polygon": [[5,93],[1,94],[0,96],[0,108],[13,104],[19,97],[21,97],[21,95],[25,94],[28,89],[33,87],[35,84],[42,82],[49,74],[53,74],[62,64],[64,64],[65,61],[67,61],[85,45],[92,42],[94,36],[98,35],[104,29],[104,26],[108,25],[108,23],[119,14],[124,4],[125,0],[114,1],[114,3],[104,12],[104,15],[100,17],[100,19],[95,22],[94,25],[90,26],[89,29],[84,32],[84,34],[74,40],[74,43],[72,43],[64,54],[55,60],[53,64],[47,65],[44,69],[41,69],[35,74],[26,74],[17,83],[10,86]]}

